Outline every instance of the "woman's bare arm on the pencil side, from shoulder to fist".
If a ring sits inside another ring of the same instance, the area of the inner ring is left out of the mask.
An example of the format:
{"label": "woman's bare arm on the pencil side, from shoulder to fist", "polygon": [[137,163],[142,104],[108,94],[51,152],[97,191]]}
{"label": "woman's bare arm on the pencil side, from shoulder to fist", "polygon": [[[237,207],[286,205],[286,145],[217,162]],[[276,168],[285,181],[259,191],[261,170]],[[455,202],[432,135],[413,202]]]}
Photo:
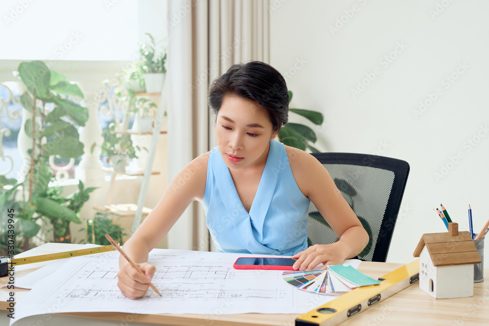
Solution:
{"label": "woman's bare arm on the pencil side, from shoulder to fist", "polygon": [[124,252],[146,275],[140,275],[123,256],[119,257],[117,285],[126,297],[140,298],[148,290],[148,283],[156,270],[155,266],[147,263],[148,254],[177,222],[188,205],[202,198],[208,158],[209,153],[200,155],[175,176],[155,208],[124,244]]}

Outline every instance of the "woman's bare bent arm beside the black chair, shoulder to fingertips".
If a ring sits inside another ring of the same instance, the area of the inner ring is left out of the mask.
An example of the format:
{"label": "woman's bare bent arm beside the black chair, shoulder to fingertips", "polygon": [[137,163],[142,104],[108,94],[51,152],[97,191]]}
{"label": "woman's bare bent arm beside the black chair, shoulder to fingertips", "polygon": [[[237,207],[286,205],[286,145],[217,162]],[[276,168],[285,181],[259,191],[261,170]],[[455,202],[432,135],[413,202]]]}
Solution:
{"label": "woman's bare bent arm beside the black chair, shoulder to fingertips", "polygon": [[289,161],[299,189],[311,199],[339,239],[297,253],[292,257],[297,259],[294,266],[311,270],[320,263],[340,264],[355,257],[365,248],[369,236],[328,171],[314,156],[300,150],[290,150]]}

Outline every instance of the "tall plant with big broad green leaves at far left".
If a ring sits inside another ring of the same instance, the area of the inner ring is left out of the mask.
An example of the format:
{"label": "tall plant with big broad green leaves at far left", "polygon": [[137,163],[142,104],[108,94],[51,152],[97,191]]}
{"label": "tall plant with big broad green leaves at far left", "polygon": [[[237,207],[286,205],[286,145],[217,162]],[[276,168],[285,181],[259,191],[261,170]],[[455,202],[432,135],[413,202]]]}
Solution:
{"label": "tall plant with big broad green leaves at far left", "polygon": [[0,207],[14,208],[16,247],[28,250],[29,240],[41,229],[39,219],[52,225],[55,242],[70,242],[69,222],[81,223],[79,212],[95,188],[85,189],[80,181],[72,196],[61,196],[62,188],[52,186],[56,179],[46,163],[51,155],[69,159],[83,154],[76,126],[85,126],[88,109],[66,99],[83,98],[80,88],[42,61],[22,62],[18,73],[27,88],[21,96],[21,130],[31,138],[30,167],[22,180],[1,180]]}

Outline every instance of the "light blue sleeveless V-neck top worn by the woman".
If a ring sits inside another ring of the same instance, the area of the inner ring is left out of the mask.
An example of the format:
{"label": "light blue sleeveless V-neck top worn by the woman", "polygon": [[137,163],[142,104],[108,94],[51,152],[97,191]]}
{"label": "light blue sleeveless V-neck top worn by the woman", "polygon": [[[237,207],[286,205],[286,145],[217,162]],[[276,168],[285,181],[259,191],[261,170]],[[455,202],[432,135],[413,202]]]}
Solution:
{"label": "light blue sleeveless V-neck top worn by the woman", "polygon": [[292,256],[307,249],[309,203],[295,182],[284,144],[270,140],[249,213],[218,147],[210,152],[202,204],[218,252]]}

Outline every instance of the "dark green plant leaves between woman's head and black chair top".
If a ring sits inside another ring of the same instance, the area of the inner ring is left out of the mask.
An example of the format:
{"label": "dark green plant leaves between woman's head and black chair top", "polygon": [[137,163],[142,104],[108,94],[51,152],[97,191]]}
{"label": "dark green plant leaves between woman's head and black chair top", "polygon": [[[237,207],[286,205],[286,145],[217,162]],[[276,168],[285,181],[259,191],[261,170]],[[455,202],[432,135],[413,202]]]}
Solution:
{"label": "dark green plant leaves between woman's head and black chair top", "polygon": [[[289,90],[289,103],[292,100],[292,92]],[[321,125],[324,117],[321,112],[305,110],[305,109],[289,109],[290,112],[302,115],[310,120],[315,125]],[[317,140],[314,130],[306,125],[298,123],[287,123],[278,132],[278,139],[285,145],[301,149],[303,151],[309,148],[311,152],[319,152],[311,143]]]}

